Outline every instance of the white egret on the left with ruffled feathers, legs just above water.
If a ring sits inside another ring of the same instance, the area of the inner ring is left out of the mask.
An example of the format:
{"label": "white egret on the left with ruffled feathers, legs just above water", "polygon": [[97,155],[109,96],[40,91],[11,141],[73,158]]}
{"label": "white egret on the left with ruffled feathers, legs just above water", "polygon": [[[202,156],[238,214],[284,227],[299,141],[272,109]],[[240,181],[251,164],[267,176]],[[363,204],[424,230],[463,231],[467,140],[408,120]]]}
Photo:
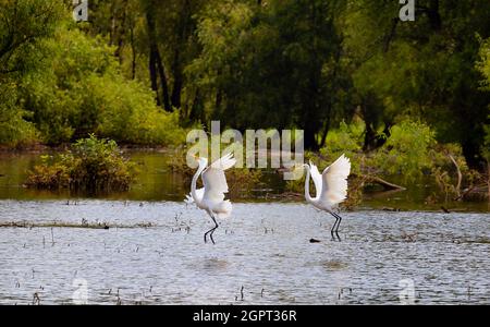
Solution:
{"label": "white egret on the left with ruffled feathers, legs just above water", "polygon": [[[208,159],[206,158],[198,158],[198,162],[199,167],[193,177],[191,193],[186,195],[185,202],[187,204],[195,203],[199,209],[206,210],[209,217],[211,217],[215,227],[205,233],[204,239],[206,243],[206,237],[209,234],[212,244],[215,244],[212,233],[218,228],[216,218],[226,218],[232,211],[231,202],[224,199],[224,193],[228,193],[228,183],[224,171],[232,168],[236,164],[236,160],[233,158],[233,155],[228,154],[221,159],[212,162],[210,166],[208,166]],[[204,187],[196,190],[196,183],[199,175],[203,179]]]}

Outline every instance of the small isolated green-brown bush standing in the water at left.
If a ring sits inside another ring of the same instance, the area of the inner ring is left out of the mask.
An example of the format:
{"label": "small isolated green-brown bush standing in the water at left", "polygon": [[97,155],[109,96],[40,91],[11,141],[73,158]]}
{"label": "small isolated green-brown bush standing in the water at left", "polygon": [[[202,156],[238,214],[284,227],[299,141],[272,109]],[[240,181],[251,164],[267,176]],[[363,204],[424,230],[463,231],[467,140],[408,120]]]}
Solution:
{"label": "small isolated green-brown bush standing in the water at left", "polygon": [[135,178],[135,165],[124,159],[114,141],[95,135],[78,140],[59,156],[42,156],[26,185],[83,192],[126,191]]}

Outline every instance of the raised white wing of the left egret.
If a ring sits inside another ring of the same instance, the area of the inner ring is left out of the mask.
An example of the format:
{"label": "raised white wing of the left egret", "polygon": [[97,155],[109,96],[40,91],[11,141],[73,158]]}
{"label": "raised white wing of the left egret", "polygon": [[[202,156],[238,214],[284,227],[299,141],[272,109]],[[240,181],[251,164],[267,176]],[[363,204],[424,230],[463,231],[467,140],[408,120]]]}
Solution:
{"label": "raised white wing of the left egret", "polygon": [[201,174],[205,186],[205,197],[212,198],[213,201],[224,199],[224,193],[228,192],[224,170],[233,167],[235,164],[236,160],[233,158],[233,155],[228,154],[206,168]]}

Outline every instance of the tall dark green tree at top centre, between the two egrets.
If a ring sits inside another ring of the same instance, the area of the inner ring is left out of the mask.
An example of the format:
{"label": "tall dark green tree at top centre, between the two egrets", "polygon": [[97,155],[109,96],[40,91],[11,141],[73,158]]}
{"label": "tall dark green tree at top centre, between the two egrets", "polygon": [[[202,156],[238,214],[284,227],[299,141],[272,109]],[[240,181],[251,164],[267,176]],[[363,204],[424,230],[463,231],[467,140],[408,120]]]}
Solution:
{"label": "tall dark green tree at top centre, between the two egrets", "polygon": [[318,149],[342,97],[332,80],[348,81],[340,77],[341,9],[319,0],[210,4],[198,25],[203,52],[188,68],[212,95],[209,116],[242,130],[298,126]]}

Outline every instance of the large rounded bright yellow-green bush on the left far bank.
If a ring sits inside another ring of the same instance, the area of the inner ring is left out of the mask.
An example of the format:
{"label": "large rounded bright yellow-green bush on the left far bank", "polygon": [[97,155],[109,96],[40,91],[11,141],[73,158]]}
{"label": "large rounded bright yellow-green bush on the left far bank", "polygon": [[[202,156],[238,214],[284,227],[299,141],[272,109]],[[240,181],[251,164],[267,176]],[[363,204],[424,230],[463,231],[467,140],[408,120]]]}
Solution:
{"label": "large rounded bright yellow-green bush on the left far bank", "polygon": [[49,56],[23,76],[20,88],[42,141],[69,143],[95,133],[125,144],[183,144],[179,111],[163,111],[151,89],[126,80],[105,40],[66,25],[42,41]]}

